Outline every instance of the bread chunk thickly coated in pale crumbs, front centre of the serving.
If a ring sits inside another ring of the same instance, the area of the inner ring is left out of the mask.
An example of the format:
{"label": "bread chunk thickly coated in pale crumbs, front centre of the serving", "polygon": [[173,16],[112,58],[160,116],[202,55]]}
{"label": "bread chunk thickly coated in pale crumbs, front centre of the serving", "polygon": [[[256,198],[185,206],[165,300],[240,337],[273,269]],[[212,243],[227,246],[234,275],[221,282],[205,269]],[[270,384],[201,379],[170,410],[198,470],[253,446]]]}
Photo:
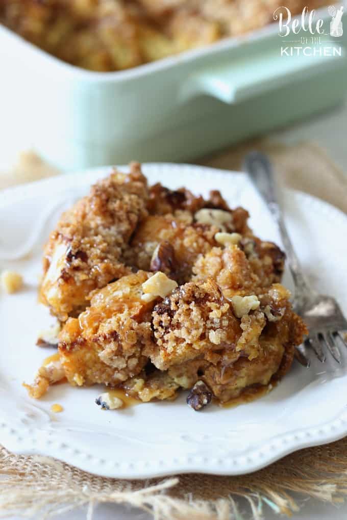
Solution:
{"label": "bread chunk thickly coated in pale crumbs, front centre of the serving", "polygon": [[145,353],[160,370],[236,343],[238,320],[213,280],[188,282],[153,310],[155,344]]}

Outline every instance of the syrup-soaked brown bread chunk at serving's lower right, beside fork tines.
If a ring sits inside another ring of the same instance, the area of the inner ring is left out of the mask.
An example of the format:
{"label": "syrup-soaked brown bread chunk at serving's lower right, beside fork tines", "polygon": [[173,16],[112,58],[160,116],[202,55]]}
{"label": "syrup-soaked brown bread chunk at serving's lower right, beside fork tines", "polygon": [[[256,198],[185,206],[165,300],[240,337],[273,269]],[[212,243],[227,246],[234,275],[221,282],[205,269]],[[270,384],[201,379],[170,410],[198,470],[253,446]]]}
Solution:
{"label": "syrup-soaked brown bread chunk at serving's lower right, beside fork tines", "polygon": [[[260,321],[263,319],[261,316],[258,318]],[[169,375],[183,388],[204,381],[221,402],[238,397],[248,387],[278,381],[291,367],[294,346],[307,333],[303,322],[297,318],[288,308],[280,322],[266,322],[263,329],[260,324],[258,331],[254,323],[243,323],[243,341],[247,337],[244,344],[246,349],[251,346],[251,356],[247,356],[245,350],[237,352],[235,347],[225,348],[218,355],[205,355],[204,359],[173,365],[169,368]]]}

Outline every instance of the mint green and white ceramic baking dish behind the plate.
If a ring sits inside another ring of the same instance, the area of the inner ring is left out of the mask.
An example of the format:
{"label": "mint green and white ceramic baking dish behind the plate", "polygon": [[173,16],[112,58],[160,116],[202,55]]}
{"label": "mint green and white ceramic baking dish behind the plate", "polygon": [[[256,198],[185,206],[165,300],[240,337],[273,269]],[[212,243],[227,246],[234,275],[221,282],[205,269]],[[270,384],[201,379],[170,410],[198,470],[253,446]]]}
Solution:
{"label": "mint green and white ceramic baking dish behind the plate", "polygon": [[[327,8],[317,17],[329,21]],[[343,46],[344,36],[336,39]],[[321,45],[331,45],[324,42]],[[65,168],[189,160],[336,105],[342,56],[280,56],[278,25],[118,72],[73,67],[0,27],[3,139]]]}

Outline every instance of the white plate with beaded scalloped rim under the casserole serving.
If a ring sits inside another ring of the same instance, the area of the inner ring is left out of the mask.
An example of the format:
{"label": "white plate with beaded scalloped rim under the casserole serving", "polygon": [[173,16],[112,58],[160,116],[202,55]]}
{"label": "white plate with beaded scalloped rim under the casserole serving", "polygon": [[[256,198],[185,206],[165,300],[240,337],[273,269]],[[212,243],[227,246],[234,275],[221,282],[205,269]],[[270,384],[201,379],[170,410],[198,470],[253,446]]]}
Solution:
{"label": "white plate with beaded scalloped rim under the casserole serving", "polygon": [[[0,296],[0,442],[16,453],[52,456],[83,470],[110,477],[145,478],[182,472],[237,475],[257,470],[299,448],[328,443],[347,434],[347,352],[337,371],[332,359],[315,358],[309,370],[294,363],[267,396],[237,408],[210,406],[196,413],[182,394],[174,402],[140,404],[101,411],[94,404],[101,387],[50,388],[40,401],[27,396],[46,349],[35,346],[38,331],[52,321],[37,304],[41,247],[62,207],[88,191],[110,168],[99,168],[20,186],[0,196],[0,256],[27,248],[31,255],[0,260],[24,275],[25,290]],[[149,164],[149,181],[187,186],[207,194],[217,188],[228,202],[245,206],[262,238],[279,242],[262,201],[245,175],[199,166]],[[57,205],[60,204],[59,210]],[[306,194],[287,191],[285,213],[302,265],[315,287],[335,295],[347,314],[347,218]],[[43,228],[38,224],[45,220]],[[291,285],[288,274],[285,283]],[[60,414],[50,412],[58,402]]]}

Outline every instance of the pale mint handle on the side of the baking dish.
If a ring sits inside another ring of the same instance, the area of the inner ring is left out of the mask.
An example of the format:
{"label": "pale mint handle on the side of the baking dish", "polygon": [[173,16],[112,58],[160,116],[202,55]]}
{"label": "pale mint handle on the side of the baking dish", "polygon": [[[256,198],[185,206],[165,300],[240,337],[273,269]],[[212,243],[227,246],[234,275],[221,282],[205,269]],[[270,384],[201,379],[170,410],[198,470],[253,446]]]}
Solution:
{"label": "pale mint handle on the side of the baking dish", "polygon": [[[327,49],[328,45],[330,51]],[[341,55],[336,53],[331,56],[331,43],[322,44],[319,48],[322,49],[319,51],[322,55],[312,51],[311,56],[281,56],[281,47],[276,46],[261,55],[258,53],[234,58],[227,63],[203,69],[187,77],[179,93],[180,101],[208,95],[232,104],[291,83],[293,75],[302,73],[307,77],[322,73],[322,69],[326,74],[346,67],[346,52],[342,46]]]}

